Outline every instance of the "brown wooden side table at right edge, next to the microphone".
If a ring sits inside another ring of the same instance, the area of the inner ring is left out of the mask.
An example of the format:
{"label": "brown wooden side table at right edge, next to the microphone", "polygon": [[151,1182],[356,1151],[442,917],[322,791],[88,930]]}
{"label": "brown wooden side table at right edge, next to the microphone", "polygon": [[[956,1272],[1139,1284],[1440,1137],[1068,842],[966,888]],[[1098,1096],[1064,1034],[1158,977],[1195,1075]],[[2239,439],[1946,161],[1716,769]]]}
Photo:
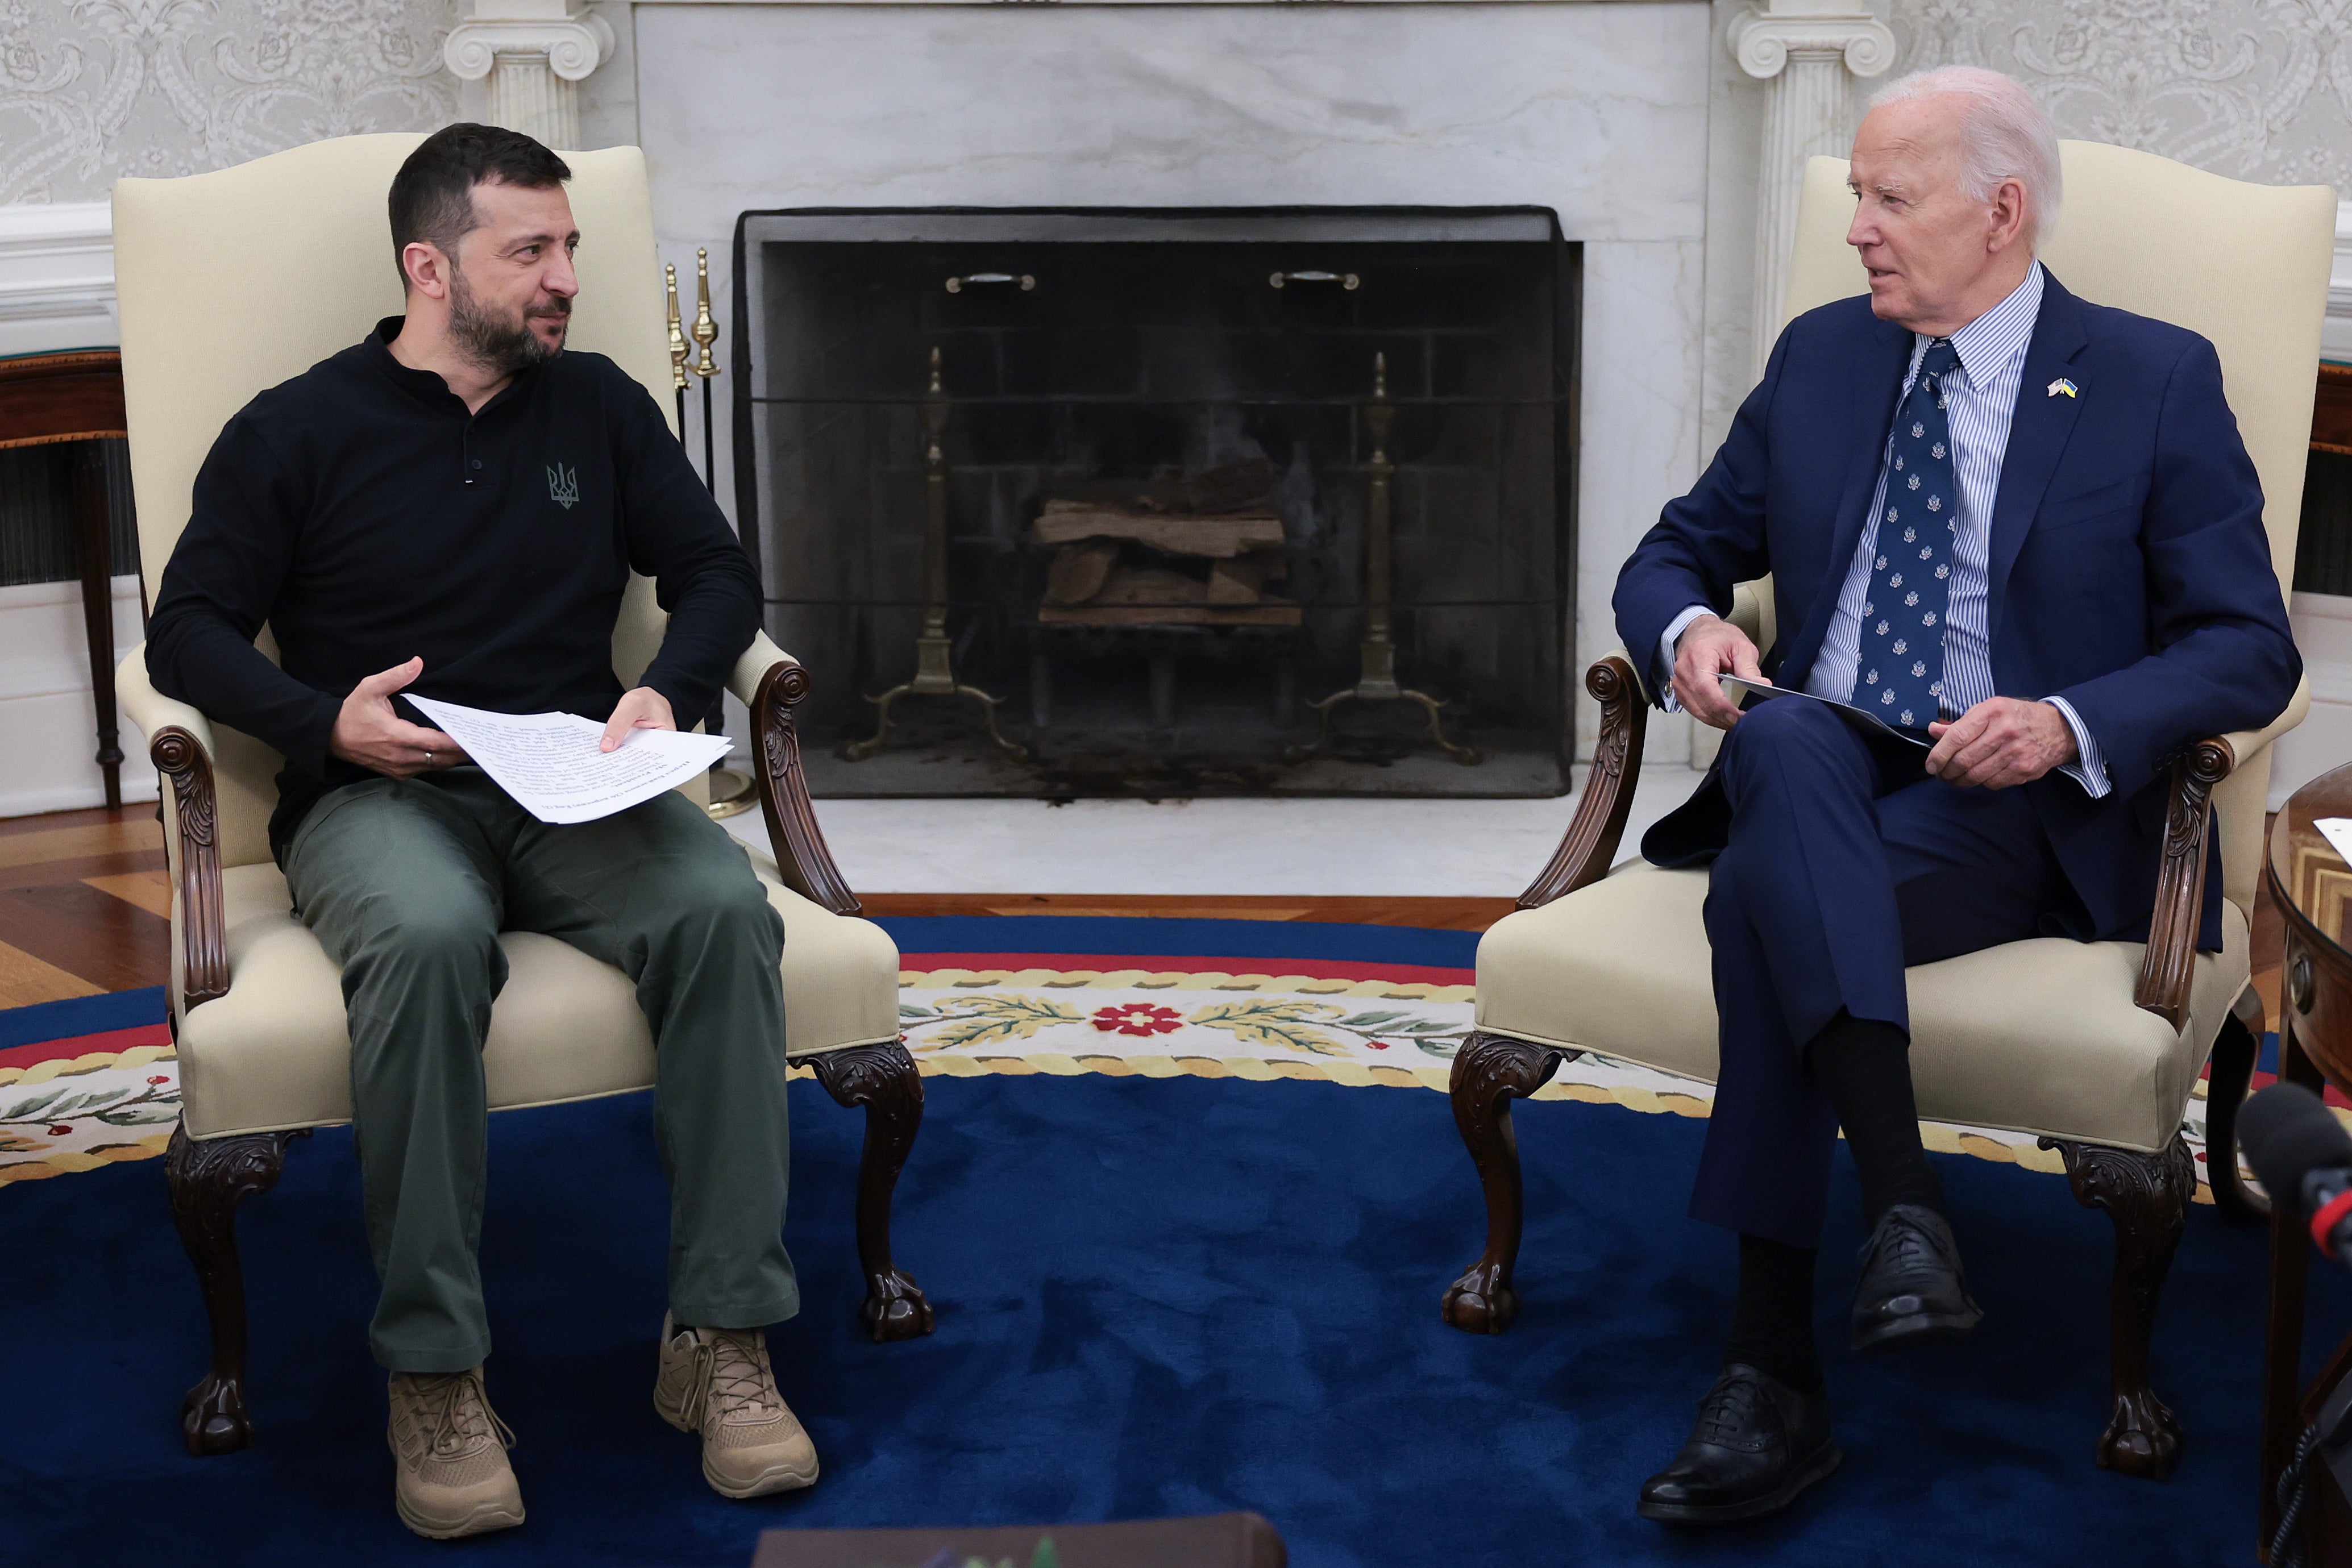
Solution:
{"label": "brown wooden side table at right edge, next to the microphone", "polygon": [[[2314,1093],[2352,1088],[2352,865],[2314,827],[2352,816],[2352,766],[2321,773],[2293,792],[2270,825],[2265,877],[2286,922],[2279,999],[2279,1079]],[[2223,1159],[2216,1152],[2216,1159]],[[2279,1528],[2279,1474],[2319,1406],[2352,1373],[2352,1335],[2319,1378],[2303,1385],[2303,1305],[2312,1239],[2291,1204],[2270,1208],[2270,1328],[2263,1361],[2260,1552]],[[2305,1542],[2310,1568],[2352,1566],[2352,1507],[2326,1465],[2312,1467]]]}

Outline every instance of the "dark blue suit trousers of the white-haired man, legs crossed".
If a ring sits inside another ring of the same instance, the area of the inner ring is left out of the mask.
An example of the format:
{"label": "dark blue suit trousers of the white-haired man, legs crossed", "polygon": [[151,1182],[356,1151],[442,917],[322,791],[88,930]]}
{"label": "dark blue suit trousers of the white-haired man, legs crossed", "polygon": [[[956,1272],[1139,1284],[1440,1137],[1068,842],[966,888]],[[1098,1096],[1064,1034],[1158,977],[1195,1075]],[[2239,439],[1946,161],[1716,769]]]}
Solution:
{"label": "dark blue suit trousers of the white-haired man, legs crossed", "polygon": [[1724,738],[1729,844],[1708,882],[1722,1072],[1691,1215],[1820,1246],[1837,1114],[1804,1046],[1839,1009],[1910,1030],[1903,969],[2044,936],[2072,893],[2025,790],[1929,778],[1818,703]]}

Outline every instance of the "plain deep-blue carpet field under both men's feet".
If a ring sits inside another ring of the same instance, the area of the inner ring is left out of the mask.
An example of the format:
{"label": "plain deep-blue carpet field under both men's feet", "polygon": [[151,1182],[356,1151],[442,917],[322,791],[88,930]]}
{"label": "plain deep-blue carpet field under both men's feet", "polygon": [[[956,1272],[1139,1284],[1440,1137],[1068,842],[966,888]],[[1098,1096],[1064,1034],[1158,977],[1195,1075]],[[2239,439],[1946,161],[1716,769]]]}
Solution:
{"label": "plain deep-blue carpet field under both men's feet", "polygon": [[[1303,1568],[1439,1563],[2251,1561],[2263,1239],[2197,1208],[2159,1326],[2190,1446],[2169,1486],[2105,1474],[2107,1220],[2065,1182],[1943,1159],[1990,1309],[1945,1354],[1830,1354],[1846,1469],[1783,1519],[1670,1535],[1632,1516],[1726,1321],[1731,1246],[1682,1218],[1700,1124],[1519,1110],[1531,1232],[1517,1328],[1437,1321],[1477,1185],[1444,1100],[1207,1079],[929,1079],[898,1255],[938,1333],[856,1333],[856,1114],[795,1084],[774,1335],[823,1453],[802,1495],[731,1505],[649,1408],[663,1192],[647,1100],[492,1121],[492,1394],[529,1526],[397,1526],[348,1133],[247,1204],[256,1448],[191,1460],[205,1359],[160,1161],[5,1194],[0,1559],[9,1563],[677,1563],[774,1526],[1011,1523],[1251,1507]],[[1851,1175],[1832,1237],[1853,1239]],[[1823,1267],[1835,1333],[1851,1255]],[[2347,1293],[2326,1281],[2321,1324]]]}

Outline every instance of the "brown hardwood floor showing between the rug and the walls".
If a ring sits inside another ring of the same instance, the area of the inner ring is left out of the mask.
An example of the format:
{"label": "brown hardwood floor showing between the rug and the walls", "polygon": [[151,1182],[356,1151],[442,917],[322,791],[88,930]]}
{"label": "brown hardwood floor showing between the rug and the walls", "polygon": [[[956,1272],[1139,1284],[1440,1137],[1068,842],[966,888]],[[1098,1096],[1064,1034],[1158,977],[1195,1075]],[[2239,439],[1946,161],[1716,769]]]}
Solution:
{"label": "brown hardwood floor showing between the rug and the walls", "polygon": [[[1510,898],[1258,898],[1152,893],[868,893],[868,914],[1157,914],[1484,931]],[[155,806],[0,818],[0,1006],[162,985],[172,886]],[[2284,926],[2253,905],[2253,983],[2279,1020]]]}

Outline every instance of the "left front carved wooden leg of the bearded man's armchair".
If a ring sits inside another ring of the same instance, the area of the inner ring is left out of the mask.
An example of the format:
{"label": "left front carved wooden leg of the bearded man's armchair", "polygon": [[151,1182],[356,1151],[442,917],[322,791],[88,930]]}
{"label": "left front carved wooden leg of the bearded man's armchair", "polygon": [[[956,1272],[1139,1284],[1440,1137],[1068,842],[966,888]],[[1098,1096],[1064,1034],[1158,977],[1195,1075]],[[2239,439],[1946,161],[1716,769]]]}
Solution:
{"label": "left front carved wooden leg of the bearded man's armchair", "polygon": [[179,1432],[188,1453],[235,1453],[254,1441],[245,1413],[245,1269],[238,1265],[238,1204],[268,1192],[285,1171],[287,1140],[296,1133],[245,1138],[188,1138],[172,1128],[162,1173],[172,1187],[172,1220],[179,1244],[195,1265],[212,1319],[212,1371],[179,1403]]}

